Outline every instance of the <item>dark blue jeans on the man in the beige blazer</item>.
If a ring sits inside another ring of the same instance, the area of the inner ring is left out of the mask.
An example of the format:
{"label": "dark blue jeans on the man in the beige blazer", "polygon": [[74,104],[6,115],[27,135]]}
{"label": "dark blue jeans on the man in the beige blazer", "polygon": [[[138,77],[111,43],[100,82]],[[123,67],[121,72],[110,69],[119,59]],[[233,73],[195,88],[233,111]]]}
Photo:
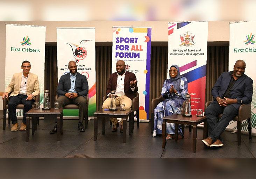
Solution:
{"label": "dark blue jeans on the man in the beige blazer", "polygon": [[8,111],[9,111],[10,118],[12,120],[12,124],[15,124],[18,122],[17,116],[16,116],[17,115],[16,107],[21,103],[24,105],[22,122],[26,124],[26,117],[27,117],[26,113],[32,108],[32,104],[34,102],[34,99],[26,100],[27,98],[28,96],[25,94],[18,94],[17,96],[9,97]]}

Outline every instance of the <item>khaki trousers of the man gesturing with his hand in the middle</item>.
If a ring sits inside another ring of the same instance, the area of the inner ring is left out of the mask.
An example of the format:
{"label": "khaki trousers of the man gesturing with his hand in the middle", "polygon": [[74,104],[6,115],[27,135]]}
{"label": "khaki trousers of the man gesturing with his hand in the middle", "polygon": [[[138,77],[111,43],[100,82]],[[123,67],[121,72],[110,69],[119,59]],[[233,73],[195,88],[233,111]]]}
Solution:
{"label": "khaki trousers of the man gesturing with his hand in the middle", "polygon": [[[109,109],[110,108],[110,102],[111,102],[111,98],[107,98],[102,105],[103,109]],[[116,106],[120,105],[120,104],[125,104],[125,109],[131,109],[131,99],[128,98],[126,95],[124,96],[119,96],[115,98],[115,104]],[[116,118],[110,117],[109,118],[112,122],[112,124],[117,124],[118,120]],[[121,125],[123,125],[123,119],[121,121]]]}

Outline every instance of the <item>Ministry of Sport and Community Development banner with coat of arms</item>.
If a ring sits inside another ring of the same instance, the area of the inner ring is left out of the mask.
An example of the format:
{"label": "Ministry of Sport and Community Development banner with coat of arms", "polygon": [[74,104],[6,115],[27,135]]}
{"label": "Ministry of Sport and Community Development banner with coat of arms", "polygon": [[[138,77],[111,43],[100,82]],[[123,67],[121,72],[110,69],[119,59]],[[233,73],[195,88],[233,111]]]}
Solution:
{"label": "Ministry of Sport and Community Development banner with coat of arms", "polygon": [[205,108],[207,38],[208,22],[168,23],[167,78],[171,65],[178,65],[187,78],[192,115]]}

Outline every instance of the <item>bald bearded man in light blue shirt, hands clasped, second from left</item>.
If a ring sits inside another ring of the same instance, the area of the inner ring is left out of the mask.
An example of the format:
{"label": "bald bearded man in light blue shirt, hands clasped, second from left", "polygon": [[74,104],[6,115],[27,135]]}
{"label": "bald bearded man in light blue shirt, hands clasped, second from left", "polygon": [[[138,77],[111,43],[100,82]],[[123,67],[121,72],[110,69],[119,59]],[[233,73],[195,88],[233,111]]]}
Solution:
{"label": "bald bearded man in light blue shirt, hands clasped, second from left", "polygon": [[[75,104],[79,108],[78,130],[84,132],[83,120],[85,118],[85,108],[88,101],[88,82],[86,76],[77,72],[77,64],[74,61],[69,62],[70,73],[64,74],[59,79],[57,94],[59,95],[57,102],[61,107],[69,104]],[[57,132],[57,121],[54,129],[50,134]]]}

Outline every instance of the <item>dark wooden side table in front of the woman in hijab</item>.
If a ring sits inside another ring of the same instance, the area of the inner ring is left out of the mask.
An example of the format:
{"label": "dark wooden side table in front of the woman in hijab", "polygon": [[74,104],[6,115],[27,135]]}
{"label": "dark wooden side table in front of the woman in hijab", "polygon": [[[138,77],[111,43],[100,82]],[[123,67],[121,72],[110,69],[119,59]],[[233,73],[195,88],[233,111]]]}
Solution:
{"label": "dark wooden side table in front of the woman in hijab", "polygon": [[163,136],[163,145],[166,144],[166,122],[175,124],[175,141],[178,141],[178,124],[188,124],[193,126],[193,152],[197,152],[197,124],[204,122],[204,138],[207,138],[207,117],[197,117],[192,115],[191,117],[185,117],[183,115],[173,114],[170,116],[163,117],[162,124],[162,136]]}

